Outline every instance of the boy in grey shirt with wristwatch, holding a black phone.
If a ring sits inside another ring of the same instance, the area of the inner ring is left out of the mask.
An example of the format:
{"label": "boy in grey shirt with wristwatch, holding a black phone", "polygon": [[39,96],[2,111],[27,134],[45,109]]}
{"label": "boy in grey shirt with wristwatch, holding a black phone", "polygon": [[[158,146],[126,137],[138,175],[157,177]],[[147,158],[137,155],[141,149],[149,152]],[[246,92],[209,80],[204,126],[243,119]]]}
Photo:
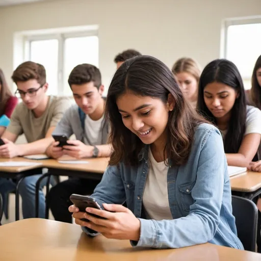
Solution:
{"label": "boy in grey shirt with wristwatch, holding a black phone", "polygon": [[[110,156],[111,146],[107,144],[110,125],[105,118],[104,86],[99,69],[91,64],[77,65],[71,71],[68,83],[76,105],[65,112],[53,136],[69,138],[74,134],[76,140],[68,140],[68,145],[60,147],[57,139],[46,150],[47,155],[54,159],[64,154],[77,159]],[[69,178],[51,188],[46,200],[55,219],[71,223],[70,195],[92,194],[98,183],[97,180]]]}

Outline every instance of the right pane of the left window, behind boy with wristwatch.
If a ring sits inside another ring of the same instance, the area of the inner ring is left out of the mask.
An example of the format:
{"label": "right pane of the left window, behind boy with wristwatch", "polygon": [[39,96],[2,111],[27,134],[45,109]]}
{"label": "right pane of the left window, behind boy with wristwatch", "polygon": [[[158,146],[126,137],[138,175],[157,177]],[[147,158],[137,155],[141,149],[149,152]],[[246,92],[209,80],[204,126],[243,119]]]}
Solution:
{"label": "right pane of the left window, behind boy with wristwatch", "polygon": [[99,43],[97,36],[66,38],[64,45],[64,95],[71,96],[68,77],[78,64],[89,63],[98,67]]}

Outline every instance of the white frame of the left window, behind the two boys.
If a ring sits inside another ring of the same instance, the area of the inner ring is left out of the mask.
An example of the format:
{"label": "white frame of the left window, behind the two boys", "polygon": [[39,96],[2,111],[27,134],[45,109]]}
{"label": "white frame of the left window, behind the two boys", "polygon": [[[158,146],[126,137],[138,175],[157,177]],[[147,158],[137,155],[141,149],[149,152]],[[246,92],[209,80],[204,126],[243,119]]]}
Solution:
{"label": "white frame of the left window, behind the two boys", "polygon": [[88,25],[83,27],[74,28],[62,28],[62,29],[50,29],[50,30],[38,30],[23,32],[23,60],[28,61],[30,58],[30,47],[32,41],[41,40],[58,40],[58,95],[64,95],[64,86],[67,84],[64,82],[64,45],[67,38],[86,37],[86,36],[97,36],[98,37],[98,26]]}

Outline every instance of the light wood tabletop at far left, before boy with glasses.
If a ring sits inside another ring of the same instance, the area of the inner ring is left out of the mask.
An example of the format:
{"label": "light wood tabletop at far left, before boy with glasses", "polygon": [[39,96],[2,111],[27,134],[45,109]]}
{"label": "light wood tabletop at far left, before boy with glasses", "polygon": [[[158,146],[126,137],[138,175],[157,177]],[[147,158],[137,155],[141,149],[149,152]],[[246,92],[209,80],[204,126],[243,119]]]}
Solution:
{"label": "light wood tabletop at far left, before boy with glasses", "polygon": [[[43,165],[42,161],[28,160],[28,159],[24,159],[23,157],[16,157],[13,159],[0,158],[0,162],[32,162],[32,163],[34,163],[34,165],[30,165],[30,166],[13,166],[13,167],[0,166],[0,172],[12,172],[12,173],[18,173],[18,172],[22,172],[22,171],[26,171],[26,170],[40,168]],[[35,165],[35,164],[37,164],[37,165]]]}

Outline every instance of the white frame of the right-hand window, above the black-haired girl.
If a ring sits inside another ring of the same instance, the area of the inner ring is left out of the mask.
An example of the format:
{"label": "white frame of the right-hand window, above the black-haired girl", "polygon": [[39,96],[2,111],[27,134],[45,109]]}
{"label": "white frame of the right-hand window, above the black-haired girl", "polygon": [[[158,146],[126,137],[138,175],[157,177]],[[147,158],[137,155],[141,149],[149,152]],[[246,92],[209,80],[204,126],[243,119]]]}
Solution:
{"label": "white frame of the right-hand window, above the black-haired girl", "polygon": [[[253,23],[261,23],[261,16],[250,16],[250,17],[235,17],[228,18],[223,20],[222,22],[222,30],[221,30],[221,41],[220,41],[220,58],[227,59],[227,32],[228,27],[230,25],[243,25],[243,24],[253,24]],[[248,77],[243,77],[243,81],[250,81],[251,75]]]}

